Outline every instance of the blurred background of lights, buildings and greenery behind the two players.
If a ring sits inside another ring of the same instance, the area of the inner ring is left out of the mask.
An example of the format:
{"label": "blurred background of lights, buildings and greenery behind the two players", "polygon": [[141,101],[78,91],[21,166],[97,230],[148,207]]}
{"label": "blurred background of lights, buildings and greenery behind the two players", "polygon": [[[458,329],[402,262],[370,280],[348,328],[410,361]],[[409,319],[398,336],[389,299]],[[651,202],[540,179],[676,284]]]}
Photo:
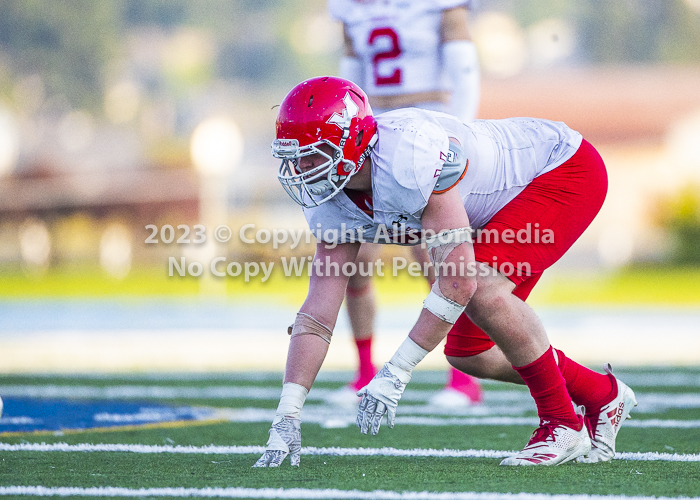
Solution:
{"label": "blurred background of lights, buildings and greenery behind the two players", "polygon": [[[533,292],[553,343],[700,363],[700,0],[482,0],[471,29],[479,118],[564,121],[609,169],[600,215]],[[306,228],[276,179],[275,106],[341,49],[321,0],[1,0],[0,373],[281,370],[307,280],[280,261],[314,240],[238,229]],[[207,243],[178,243],[196,224]],[[276,267],[169,276],[169,257],[213,255]],[[382,359],[426,289],[377,287]],[[327,365],[352,369],[341,316]]]}

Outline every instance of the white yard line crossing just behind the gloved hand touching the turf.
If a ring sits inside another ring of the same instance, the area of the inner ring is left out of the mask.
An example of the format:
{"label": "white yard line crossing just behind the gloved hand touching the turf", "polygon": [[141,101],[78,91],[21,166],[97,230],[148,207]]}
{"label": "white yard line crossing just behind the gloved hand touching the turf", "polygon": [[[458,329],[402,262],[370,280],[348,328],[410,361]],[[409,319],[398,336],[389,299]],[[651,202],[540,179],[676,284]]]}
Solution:
{"label": "white yard line crossing just behind the gloved hand touching the turf", "polygon": [[[0,451],[34,451],[34,452],[103,452],[103,453],[174,453],[201,455],[257,455],[265,451],[264,446],[170,446],[145,444],[68,444],[68,443],[0,443]],[[316,448],[306,446],[302,455],[321,455],[337,457],[438,457],[438,458],[504,458],[516,453],[514,450],[435,450],[414,448]],[[661,462],[700,462],[700,453],[627,453],[618,452],[616,460],[661,461]]]}

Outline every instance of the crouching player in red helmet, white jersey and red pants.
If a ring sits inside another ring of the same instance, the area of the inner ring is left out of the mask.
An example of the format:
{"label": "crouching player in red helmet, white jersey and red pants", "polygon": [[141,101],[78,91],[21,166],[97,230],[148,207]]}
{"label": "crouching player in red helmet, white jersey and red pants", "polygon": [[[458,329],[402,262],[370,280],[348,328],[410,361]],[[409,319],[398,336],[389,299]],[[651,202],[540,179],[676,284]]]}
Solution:
{"label": "crouching player in red helmet, white jersey and red pants", "polygon": [[[345,295],[339,270],[352,269],[360,236],[422,242],[436,270],[415,326],[360,390],[361,432],[376,434],[385,414],[393,427],[414,367],[447,336],[452,366],[524,383],[535,400],[540,425],[503,465],[612,459],[634,393],[611,370],[596,373],[552,348],[524,302],[603,204],[607,174],[593,146],[563,123],[534,118],[464,123],[416,108],[375,117],[357,85],[334,77],[294,87],[276,127],[279,180],[328,241],[317,244],[289,330],[282,396],[255,466],[279,466],[288,454],[299,465],[301,408]],[[489,238],[472,238],[472,229]],[[333,230],[337,238],[327,236]]]}

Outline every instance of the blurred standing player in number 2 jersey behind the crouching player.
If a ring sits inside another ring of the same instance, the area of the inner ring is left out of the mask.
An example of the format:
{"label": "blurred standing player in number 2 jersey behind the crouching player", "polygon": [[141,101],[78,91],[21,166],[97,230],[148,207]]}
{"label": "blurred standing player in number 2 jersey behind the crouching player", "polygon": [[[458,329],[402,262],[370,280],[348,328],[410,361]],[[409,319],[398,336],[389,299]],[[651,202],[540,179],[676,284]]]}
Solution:
{"label": "blurred standing player in number 2 jersey behind the crouching player", "polygon": [[[479,63],[468,29],[471,0],[329,0],[330,14],[343,23],[345,55],[340,76],[358,84],[380,114],[417,107],[450,113],[463,122],[476,118]],[[418,262],[429,262],[424,249],[411,247]],[[375,262],[380,247],[365,243],[357,262]],[[367,269],[367,267],[365,267]],[[432,281],[433,276],[428,276]],[[348,389],[364,387],[376,373],[372,363],[375,298],[372,277],[350,277],[346,306],[358,352],[358,370]],[[447,385],[432,404],[463,406],[482,400],[476,379],[450,368]]]}

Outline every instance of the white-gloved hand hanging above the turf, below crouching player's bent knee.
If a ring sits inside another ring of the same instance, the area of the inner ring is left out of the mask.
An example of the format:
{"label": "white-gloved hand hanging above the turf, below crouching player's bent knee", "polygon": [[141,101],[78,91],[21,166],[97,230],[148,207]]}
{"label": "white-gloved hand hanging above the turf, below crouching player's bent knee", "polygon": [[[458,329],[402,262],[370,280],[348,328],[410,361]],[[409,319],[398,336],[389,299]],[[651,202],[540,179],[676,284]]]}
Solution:
{"label": "white-gloved hand hanging above the turf, below crouching player's bent knee", "polygon": [[410,373],[386,363],[370,383],[357,392],[362,399],[357,410],[356,424],[362,434],[371,431],[375,436],[379,432],[384,414],[387,414],[389,427],[394,427],[399,399],[410,380]]}

